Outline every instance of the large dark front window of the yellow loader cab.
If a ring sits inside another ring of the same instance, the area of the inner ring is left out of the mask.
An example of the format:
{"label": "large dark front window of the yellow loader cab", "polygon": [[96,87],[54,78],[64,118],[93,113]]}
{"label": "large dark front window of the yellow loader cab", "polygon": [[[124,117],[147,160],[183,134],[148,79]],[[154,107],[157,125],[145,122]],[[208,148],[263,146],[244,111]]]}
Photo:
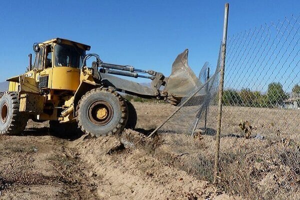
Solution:
{"label": "large dark front window of the yellow loader cab", "polygon": [[56,44],[55,45],[55,66],[69,66],[79,68],[85,56],[85,50],[76,45]]}

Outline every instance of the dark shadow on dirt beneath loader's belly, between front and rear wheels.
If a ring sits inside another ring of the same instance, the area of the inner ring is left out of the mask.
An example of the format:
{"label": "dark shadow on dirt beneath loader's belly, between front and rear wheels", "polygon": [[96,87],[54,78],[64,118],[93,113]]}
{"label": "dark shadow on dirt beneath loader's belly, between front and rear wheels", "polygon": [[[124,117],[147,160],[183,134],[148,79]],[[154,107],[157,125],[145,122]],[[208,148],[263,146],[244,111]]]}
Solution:
{"label": "dark shadow on dirt beneath loader's belly, between front and rear wheels", "polygon": [[55,134],[51,132],[48,127],[32,127],[32,128],[25,129],[24,132],[22,133],[22,136],[47,136],[47,135],[73,141],[81,137],[83,133],[76,132],[73,134],[70,133]]}

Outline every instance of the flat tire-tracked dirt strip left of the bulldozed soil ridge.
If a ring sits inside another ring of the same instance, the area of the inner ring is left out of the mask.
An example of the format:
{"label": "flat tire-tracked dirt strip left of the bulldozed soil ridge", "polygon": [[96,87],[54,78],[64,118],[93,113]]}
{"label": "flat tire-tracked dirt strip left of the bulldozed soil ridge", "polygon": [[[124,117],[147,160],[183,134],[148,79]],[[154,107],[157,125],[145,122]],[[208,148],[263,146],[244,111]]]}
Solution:
{"label": "flat tire-tracked dirt strip left of the bulldozed soil ridge", "polygon": [[98,199],[72,142],[32,121],[22,136],[0,135],[0,199]]}

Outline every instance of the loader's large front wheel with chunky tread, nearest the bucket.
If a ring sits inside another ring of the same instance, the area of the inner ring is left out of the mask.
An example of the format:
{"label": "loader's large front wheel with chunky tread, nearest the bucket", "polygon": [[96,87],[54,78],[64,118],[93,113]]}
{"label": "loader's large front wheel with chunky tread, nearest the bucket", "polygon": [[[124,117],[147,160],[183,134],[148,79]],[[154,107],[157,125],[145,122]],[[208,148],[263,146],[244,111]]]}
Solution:
{"label": "loader's large front wheel with chunky tread, nearest the bucket", "polygon": [[80,129],[92,136],[119,134],[128,118],[127,105],[120,94],[108,88],[86,92],[76,107]]}

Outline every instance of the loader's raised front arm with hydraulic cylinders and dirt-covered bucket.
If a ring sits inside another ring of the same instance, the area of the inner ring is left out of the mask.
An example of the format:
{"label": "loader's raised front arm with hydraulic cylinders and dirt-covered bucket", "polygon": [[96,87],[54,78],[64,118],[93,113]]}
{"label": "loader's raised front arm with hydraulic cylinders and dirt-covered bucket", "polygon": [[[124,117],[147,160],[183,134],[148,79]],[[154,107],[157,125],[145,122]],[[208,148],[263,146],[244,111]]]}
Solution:
{"label": "loader's raised front arm with hydraulic cylinders and dirt-covered bucket", "polygon": [[[187,63],[188,49],[177,55],[172,64],[171,74],[168,77],[153,70],[136,69],[129,65],[104,63],[97,54],[87,54],[83,63],[91,56],[96,58],[96,61],[92,62],[91,68],[94,79],[98,81],[97,83],[104,84],[104,86],[112,86],[118,91],[135,96],[163,99],[173,105],[177,105],[184,96],[195,89],[198,83],[197,76]],[[145,73],[148,75],[143,75]],[[151,84],[150,87],[147,87],[110,74],[148,78],[151,79]],[[163,89],[161,86],[164,86]]]}

